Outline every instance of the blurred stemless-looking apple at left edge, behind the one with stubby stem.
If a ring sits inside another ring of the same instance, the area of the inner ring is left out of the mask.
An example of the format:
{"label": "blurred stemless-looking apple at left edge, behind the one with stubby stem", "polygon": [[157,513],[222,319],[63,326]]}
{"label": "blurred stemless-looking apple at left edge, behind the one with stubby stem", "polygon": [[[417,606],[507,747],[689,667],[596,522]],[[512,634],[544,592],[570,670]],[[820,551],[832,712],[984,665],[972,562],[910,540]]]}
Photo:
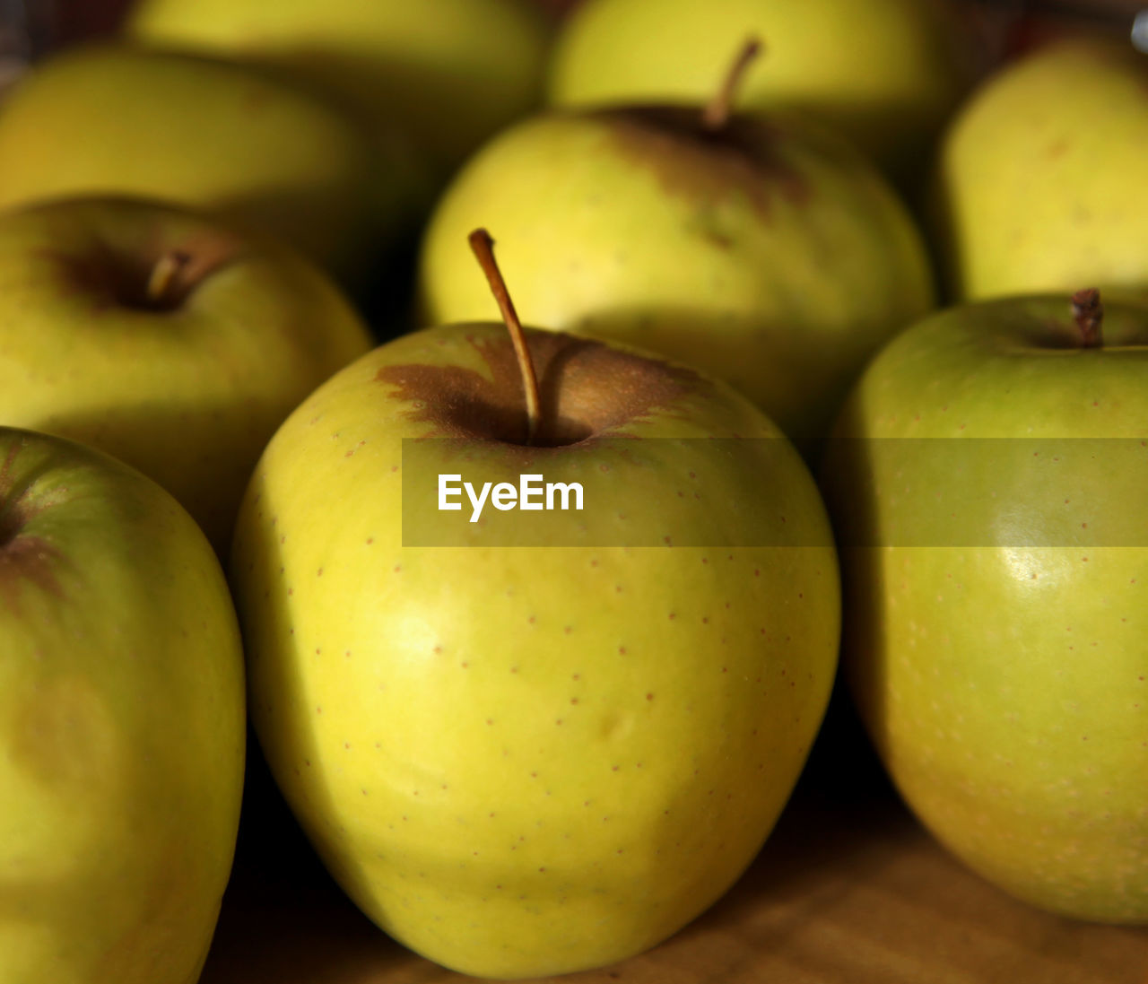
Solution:
{"label": "blurred stemless-looking apple at left edge, behind the one with stubby stem", "polygon": [[125,45],[40,61],[0,104],[0,207],[164,199],[292,243],[347,280],[403,227],[411,171],[334,104],[251,68]]}

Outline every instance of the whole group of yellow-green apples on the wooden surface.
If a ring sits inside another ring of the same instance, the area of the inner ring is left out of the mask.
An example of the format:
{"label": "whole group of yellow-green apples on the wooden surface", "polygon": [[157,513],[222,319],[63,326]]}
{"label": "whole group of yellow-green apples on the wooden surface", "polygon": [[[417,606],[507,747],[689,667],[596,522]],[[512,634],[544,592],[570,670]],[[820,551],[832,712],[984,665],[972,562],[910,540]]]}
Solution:
{"label": "whole group of yellow-green apples on the wooden surface", "polygon": [[400,942],[622,960],[839,654],[941,843],[1148,922],[1148,55],[561,6],[141,0],[3,95],[5,984],[197,979],[248,720]]}

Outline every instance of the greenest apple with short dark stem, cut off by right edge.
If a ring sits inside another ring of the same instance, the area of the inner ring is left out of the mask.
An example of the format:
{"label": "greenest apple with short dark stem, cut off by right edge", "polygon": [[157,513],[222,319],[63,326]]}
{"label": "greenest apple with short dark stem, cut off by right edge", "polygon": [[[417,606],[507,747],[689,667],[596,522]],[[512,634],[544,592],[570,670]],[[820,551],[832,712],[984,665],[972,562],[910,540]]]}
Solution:
{"label": "greenest apple with short dark stem, cut off by right edge", "polygon": [[[1093,295],[1094,296],[1094,295]],[[1148,922],[1148,307],[998,299],[869,366],[825,462],[892,778],[1034,905]]]}

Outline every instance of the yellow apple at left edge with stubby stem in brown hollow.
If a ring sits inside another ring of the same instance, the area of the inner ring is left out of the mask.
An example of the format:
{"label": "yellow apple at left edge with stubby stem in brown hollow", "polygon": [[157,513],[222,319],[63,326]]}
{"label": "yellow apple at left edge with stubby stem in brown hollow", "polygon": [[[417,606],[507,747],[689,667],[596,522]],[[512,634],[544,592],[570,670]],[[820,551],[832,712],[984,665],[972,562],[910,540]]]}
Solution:
{"label": "yellow apple at left edge with stubby stem in brown hollow", "polygon": [[0,424],[154,478],[220,549],[263,445],[371,348],[313,264],[154,202],[0,215]]}

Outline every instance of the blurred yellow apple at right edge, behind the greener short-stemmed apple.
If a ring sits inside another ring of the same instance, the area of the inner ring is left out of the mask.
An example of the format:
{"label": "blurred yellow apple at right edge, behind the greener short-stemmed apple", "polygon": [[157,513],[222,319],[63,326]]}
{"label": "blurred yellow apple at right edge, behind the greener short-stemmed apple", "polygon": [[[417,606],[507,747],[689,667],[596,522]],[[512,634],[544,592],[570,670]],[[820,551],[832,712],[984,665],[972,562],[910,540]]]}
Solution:
{"label": "blurred yellow apple at right edge, behind the greener short-stemmed apple", "polygon": [[1049,42],[988,79],[945,134],[933,232],[954,297],[1148,290],[1148,55]]}

